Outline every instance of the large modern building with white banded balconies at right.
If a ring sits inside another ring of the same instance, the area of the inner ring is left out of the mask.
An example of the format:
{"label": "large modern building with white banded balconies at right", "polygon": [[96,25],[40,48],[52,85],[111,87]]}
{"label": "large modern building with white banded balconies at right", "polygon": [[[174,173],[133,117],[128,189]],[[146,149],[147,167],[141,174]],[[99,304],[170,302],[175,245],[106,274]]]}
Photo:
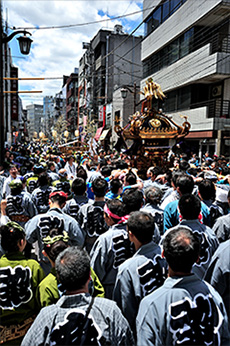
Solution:
{"label": "large modern building with white banded balconies at right", "polygon": [[152,77],[163,110],[177,123],[188,116],[193,151],[229,156],[230,1],[144,0],[143,10],[142,88]]}

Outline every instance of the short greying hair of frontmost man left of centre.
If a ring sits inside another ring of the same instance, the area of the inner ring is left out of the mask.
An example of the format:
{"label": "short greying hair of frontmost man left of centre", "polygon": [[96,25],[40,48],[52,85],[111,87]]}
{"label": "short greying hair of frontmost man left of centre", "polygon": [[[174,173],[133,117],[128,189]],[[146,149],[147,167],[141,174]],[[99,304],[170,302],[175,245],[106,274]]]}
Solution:
{"label": "short greying hair of frontmost man left of centre", "polygon": [[89,279],[90,258],[85,250],[76,246],[68,247],[58,255],[55,268],[63,289],[75,291]]}

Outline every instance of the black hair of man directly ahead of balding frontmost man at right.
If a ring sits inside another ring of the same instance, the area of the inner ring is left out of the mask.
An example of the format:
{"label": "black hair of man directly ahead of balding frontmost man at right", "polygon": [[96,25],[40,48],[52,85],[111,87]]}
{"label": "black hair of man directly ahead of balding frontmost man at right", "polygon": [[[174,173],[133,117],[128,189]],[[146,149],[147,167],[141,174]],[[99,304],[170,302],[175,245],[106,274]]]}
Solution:
{"label": "black hair of man directly ahead of balding frontmost man at right", "polygon": [[178,207],[183,219],[196,220],[201,211],[201,201],[192,194],[185,194],[179,199]]}

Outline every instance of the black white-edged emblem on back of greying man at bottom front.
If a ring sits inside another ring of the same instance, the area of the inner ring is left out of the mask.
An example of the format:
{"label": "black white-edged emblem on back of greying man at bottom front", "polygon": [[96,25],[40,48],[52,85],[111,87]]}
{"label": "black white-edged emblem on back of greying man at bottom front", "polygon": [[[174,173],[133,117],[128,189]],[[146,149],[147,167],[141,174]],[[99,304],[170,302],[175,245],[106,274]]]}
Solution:
{"label": "black white-edged emblem on back of greying man at bottom front", "polygon": [[79,308],[69,310],[64,321],[58,323],[51,331],[50,345],[100,345],[101,330],[89,315],[93,305],[92,298],[87,311]]}

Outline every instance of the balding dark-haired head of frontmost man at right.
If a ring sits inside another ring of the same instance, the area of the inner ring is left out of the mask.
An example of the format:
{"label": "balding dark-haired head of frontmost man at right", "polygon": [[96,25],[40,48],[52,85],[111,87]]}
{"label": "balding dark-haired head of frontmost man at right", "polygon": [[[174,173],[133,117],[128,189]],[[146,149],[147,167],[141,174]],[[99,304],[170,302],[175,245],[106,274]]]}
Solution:
{"label": "balding dark-haired head of frontmost man at right", "polygon": [[163,239],[164,256],[175,272],[190,273],[200,253],[198,237],[188,227],[178,226]]}

